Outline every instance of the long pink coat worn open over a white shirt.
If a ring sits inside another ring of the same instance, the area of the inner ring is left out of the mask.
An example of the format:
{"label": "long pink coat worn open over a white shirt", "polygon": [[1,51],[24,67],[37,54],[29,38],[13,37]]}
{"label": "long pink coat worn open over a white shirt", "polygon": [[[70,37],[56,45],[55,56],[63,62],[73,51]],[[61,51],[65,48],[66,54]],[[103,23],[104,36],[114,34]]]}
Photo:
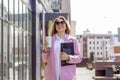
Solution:
{"label": "long pink coat worn open over a white shirt", "polygon": [[[54,60],[54,52],[53,46],[55,42],[56,36],[52,37],[52,48],[50,48],[49,53],[42,53],[43,62],[47,62],[47,66],[45,68],[45,79],[46,80],[56,80],[55,73],[55,60]],[[80,51],[78,49],[77,40],[67,35],[65,38],[65,42],[74,42],[74,55],[70,56],[70,60],[68,63],[80,63],[82,61],[82,57],[80,55]],[[61,80],[76,80],[76,65],[69,65],[61,67],[60,69]]]}

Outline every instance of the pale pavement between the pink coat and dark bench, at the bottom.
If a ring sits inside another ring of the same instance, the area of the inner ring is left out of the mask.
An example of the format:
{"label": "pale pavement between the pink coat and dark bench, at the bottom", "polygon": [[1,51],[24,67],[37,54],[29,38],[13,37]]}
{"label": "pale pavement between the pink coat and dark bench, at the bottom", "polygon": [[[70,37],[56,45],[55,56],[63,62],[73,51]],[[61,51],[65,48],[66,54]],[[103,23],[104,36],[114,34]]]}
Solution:
{"label": "pale pavement between the pink coat and dark bench, at the bottom", "polygon": [[94,75],[95,71],[89,70],[86,67],[79,67],[76,69],[77,71],[77,80],[94,80],[92,76]]}

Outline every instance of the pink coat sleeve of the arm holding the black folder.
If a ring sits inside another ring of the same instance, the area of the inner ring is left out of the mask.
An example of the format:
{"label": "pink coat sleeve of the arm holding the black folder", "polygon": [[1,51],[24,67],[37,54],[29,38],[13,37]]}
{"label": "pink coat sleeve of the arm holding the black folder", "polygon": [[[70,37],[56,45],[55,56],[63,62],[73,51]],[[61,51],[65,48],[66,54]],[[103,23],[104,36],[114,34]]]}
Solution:
{"label": "pink coat sleeve of the arm holding the black folder", "polygon": [[82,56],[80,53],[80,48],[77,39],[73,39],[74,42],[74,55],[69,55],[69,60],[67,63],[80,63],[82,61]]}

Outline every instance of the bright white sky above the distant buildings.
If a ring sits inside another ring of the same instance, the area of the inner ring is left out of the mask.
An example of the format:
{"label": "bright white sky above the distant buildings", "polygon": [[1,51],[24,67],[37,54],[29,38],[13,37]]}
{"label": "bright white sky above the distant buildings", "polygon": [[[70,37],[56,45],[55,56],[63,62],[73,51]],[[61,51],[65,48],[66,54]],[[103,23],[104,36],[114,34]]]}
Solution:
{"label": "bright white sky above the distant buildings", "polygon": [[71,19],[76,21],[76,34],[89,30],[95,34],[118,34],[120,0],[71,0]]}

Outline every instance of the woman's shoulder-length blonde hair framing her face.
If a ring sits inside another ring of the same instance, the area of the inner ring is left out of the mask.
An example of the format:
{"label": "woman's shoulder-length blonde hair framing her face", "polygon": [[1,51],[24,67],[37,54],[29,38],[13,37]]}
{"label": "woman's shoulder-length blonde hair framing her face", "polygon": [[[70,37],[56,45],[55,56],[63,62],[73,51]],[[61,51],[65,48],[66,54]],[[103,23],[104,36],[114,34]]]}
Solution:
{"label": "woman's shoulder-length blonde hair framing her face", "polygon": [[59,16],[59,17],[55,18],[54,21],[53,21],[53,25],[51,27],[50,35],[53,36],[53,35],[57,34],[57,30],[55,28],[56,27],[55,22],[57,21],[57,19],[62,19],[63,21],[65,21],[65,24],[66,24],[65,33],[70,34],[71,33],[70,24],[67,22],[67,20],[65,19],[64,16]]}

